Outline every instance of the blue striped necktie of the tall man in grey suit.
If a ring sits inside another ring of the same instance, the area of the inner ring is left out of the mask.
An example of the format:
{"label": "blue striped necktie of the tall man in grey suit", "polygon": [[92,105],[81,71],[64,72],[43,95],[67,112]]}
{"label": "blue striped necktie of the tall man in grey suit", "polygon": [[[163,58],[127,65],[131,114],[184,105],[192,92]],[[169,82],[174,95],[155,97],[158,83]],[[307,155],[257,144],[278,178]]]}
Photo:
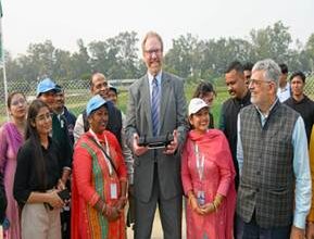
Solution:
{"label": "blue striped necktie of the tall man in grey suit", "polygon": [[152,130],[153,136],[158,136],[159,133],[159,120],[160,120],[160,90],[156,78],[152,80],[152,101],[151,101],[151,116],[152,116]]}

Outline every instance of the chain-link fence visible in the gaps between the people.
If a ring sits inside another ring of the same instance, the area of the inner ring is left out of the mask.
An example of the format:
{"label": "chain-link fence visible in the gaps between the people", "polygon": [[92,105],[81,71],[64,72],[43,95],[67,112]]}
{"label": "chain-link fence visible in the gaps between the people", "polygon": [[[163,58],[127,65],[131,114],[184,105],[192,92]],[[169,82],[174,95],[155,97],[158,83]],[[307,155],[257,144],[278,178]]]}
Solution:
{"label": "chain-link fence visible in the gaps between the people", "polygon": [[[223,79],[222,79],[223,80]],[[126,110],[126,102],[127,102],[127,87],[128,85],[134,81],[127,79],[128,84],[120,84],[118,80],[113,80],[112,84],[118,87],[120,89],[120,108],[125,111]],[[9,81],[8,83],[8,91],[21,91],[23,92],[27,101],[30,102],[36,98],[36,87],[38,81]],[[56,84],[63,86],[65,90],[65,104],[66,106],[75,114],[78,115],[86,106],[87,101],[90,99],[89,86],[88,80],[75,79],[75,80],[65,80],[65,81],[56,81]],[[188,92],[188,98],[190,92],[192,91],[191,88],[194,88],[194,85],[186,86],[186,92]],[[219,87],[221,88],[221,87]],[[225,89],[221,89],[225,90]],[[309,74],[306,77],[305,89],[304,92],[309,96],[312,100],[314,100],[314,73]],[[7,102],[4,102],[4,87],[3,81],[0,83],[0,125],[7,121]],[[228,95],[226,93],[218,93],[216,102],[221,104]]]}

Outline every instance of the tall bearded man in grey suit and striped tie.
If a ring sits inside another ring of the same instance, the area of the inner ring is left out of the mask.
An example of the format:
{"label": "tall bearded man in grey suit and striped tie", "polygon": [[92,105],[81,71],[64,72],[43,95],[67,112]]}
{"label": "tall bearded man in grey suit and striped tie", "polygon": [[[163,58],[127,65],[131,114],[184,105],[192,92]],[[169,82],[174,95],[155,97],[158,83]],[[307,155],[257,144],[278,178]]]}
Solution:
{"label": "tall bearded man in grey suit and striped tie", "polygon": [[[148,72],[129,88],[126,135],[135,154],[135,238],[151,237],[156,204],[165,239],[181,238],[180,149],[187,125],[184,83],[162,71],[163,41],[153,32],[142,41]],[[140,136],[167,133],[174,140],[165,149],[138,146]]]}

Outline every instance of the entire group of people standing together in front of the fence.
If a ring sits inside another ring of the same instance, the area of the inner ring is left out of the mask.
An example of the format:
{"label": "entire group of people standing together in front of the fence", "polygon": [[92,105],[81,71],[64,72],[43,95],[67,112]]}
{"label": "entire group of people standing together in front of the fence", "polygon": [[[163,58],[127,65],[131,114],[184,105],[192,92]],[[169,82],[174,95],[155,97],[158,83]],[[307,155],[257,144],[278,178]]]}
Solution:
{"label": "entire group of people standing together in front of the fence", "polygon": [[[28,104],[7,102],[0,128],[0,224],[8,239],[314,238],[314,102],[305,75],[271,59],[231,62],[218,128],[216,91],[200,81],[187,104],[181,78],[163,71],[163,41],[142,41],[147,73],[127,112],[102,73],[81,114],[46,78]],[[127,210],[127,211],[126,211]],[[2,235],[1,235],[2,236]]]}

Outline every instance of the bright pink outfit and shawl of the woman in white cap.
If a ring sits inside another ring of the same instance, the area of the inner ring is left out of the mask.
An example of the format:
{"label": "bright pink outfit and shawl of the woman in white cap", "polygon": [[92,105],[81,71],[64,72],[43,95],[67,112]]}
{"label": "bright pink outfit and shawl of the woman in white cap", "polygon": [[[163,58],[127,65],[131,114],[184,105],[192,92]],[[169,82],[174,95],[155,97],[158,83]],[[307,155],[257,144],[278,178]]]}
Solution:
{"label": "bright pink outfit and shawl of the woman in white cap", "polygon": [[[203,175],[197,168],[196,146],[204,158]],[[181,179],[185,193],[204,191],[205,203],[213,202],[217,193],[225,197],[217,212],[199,215],[187,205],[187,238],[231,239],[236,207],[235,168],[229,144],[224,134],[209,129],[200,135],[193,130],[183,152]]]}

